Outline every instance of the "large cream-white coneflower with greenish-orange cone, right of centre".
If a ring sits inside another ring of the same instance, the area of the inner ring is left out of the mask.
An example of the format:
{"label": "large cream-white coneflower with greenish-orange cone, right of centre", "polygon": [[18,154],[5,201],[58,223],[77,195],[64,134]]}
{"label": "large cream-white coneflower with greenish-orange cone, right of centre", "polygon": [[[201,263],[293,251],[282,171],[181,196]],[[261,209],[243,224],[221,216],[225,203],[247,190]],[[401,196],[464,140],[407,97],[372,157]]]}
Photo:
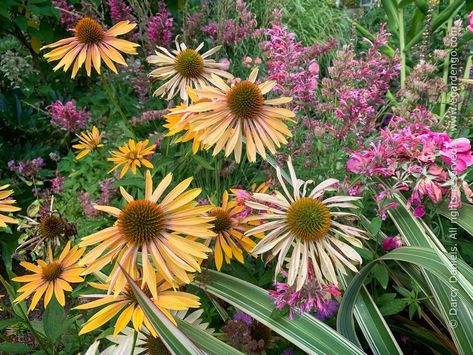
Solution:
{"label": "large cream-white coneflower with greenish-orange cone, right of centre", "polygon": [[284,182],[281,169],[277,168],[284,194],[279,191],[274,195],[255,193],[254,201],[246,202],[254,210],[264,211],[248,219],[265,221],[249,230],[247,235],[267,232],[252,252],[262,254],[270,251],[273,257],[277,256],[276,276],[287,258],[287,283],[289,286],[296,284],[296,290],[300,290],[307,280],[309,263],[319,282],[338,285],[337,271],[345,273],[347,267],[356,272],[355,264],[362,262],[350,244],[361,248],[359,238],[366,238],[364,232],[342,223],[344,219],[357,217],[345,209],[357,208],[353,201],[360,197],[325,198],[326,192],[337,190],[338,180],[327,179],[309,191],[308,185],[312,181],[298,180],[291,160],[288,168],[292,193]]}

